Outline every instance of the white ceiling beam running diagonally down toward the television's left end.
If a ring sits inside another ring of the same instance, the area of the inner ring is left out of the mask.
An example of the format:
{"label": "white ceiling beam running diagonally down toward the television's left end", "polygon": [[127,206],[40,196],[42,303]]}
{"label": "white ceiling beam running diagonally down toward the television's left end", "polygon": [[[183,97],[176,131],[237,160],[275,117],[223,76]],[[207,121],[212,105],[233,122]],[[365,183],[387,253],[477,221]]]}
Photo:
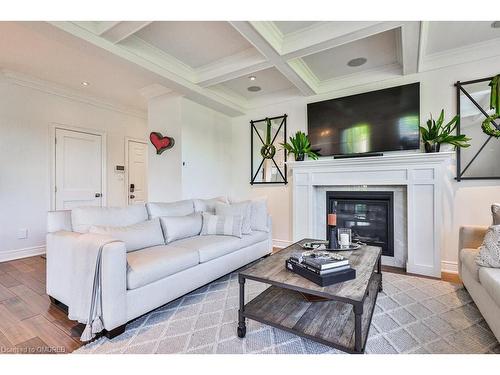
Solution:
{"label": "white ceiling beam running diagonally down toward the television's left end", "polygon": [[274,47],[264,38],[250,22],[236,21],[230,24],[243,35],[257,50],[293,83],[303,95],[314,95],[316,90],[305,82],[295,70],[281,57]]}

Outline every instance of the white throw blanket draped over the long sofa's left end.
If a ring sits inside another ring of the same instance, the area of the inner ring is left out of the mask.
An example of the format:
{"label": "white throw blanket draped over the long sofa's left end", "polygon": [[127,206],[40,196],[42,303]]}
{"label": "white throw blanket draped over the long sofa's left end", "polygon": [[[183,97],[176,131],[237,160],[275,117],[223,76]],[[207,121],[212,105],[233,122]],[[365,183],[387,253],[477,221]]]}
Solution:
{"label": "white throw blanket draped over the long sofa's left end", "polygon": [[85,233],[73,250],[68,318],[86,324],[80,337],[89,341],[104,329],[102,322],[101,258],[105,245],[119,242],[109,236]]}

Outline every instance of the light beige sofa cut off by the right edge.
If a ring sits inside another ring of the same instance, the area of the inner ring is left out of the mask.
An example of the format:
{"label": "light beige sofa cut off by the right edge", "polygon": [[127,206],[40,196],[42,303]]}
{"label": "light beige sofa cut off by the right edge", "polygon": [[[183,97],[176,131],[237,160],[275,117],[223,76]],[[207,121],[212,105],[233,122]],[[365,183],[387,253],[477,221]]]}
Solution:
{"label": "light beige sofa cut off by the right edge", "polygon": [[500,341],[500,268],[481,267],[476,263],[478,247],[488,227],[460,228],[458,272],[479,311]]}

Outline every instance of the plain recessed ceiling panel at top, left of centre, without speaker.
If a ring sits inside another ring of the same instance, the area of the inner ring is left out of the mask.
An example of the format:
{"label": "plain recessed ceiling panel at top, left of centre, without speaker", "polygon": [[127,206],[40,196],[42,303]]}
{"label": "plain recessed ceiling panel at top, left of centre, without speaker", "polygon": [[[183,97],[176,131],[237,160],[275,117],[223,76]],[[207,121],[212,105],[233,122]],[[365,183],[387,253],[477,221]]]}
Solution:
{"label": "plain recessed ceiling panel at top, left of centre, without speaker", "polygon": [[253,48],[228,22],[220,21],[158,21],[135,35],[192,68]]}

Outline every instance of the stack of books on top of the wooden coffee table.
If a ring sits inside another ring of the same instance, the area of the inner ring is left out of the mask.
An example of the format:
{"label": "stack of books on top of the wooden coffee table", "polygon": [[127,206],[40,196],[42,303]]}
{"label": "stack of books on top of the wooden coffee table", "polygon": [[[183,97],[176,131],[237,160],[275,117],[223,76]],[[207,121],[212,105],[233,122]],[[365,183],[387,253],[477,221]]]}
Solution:
{"label": "stack of books on top of the wooden coffee table", "polygon": [[286,267],[320,286],[356,278],[356,270],[351,268],[349,259],[324,251],[293,254],[286,260]]}

